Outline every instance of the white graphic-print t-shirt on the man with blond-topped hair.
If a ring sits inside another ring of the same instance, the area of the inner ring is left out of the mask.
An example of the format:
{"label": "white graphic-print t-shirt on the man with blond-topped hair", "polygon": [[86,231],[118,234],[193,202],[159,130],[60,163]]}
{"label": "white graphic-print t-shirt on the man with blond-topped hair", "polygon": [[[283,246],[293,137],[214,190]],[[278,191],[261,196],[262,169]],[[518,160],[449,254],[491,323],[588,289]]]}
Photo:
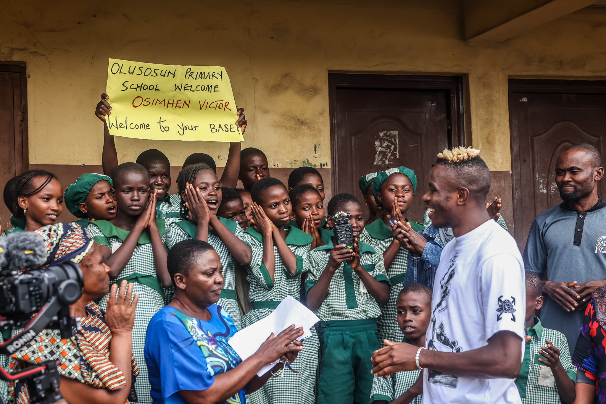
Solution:
{"label": "white graphic-print t-shirt on the man with blond-topped hair", "polygon": [[[471,351],[487,345],[499,331],[513,331],[522,343],[525,297],[518,246],[494,220],[487,220],[455,237],[442,251],[425,348]],[[426,369],[423,402],[521,403],[521,399],[514,379],[460,377]]]}

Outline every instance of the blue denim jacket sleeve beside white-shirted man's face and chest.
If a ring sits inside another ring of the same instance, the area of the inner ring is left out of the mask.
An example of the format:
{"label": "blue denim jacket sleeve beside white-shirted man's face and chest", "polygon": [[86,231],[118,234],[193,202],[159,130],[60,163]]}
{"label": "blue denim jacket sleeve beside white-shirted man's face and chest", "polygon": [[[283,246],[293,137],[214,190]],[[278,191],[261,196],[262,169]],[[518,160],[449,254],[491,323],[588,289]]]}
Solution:
{"label": "blue denim jacket sleeve beside white-shirted man's face and chest", "polygon": [[427,244],[421,257],[413,257],[408,254],[408,269],[404,278],[404,285],[422,283],[428,288],[433,288],[433,280],[440,264],[444,243],[440,239],[438,229],[431,225],[419,233],[425,237]]}

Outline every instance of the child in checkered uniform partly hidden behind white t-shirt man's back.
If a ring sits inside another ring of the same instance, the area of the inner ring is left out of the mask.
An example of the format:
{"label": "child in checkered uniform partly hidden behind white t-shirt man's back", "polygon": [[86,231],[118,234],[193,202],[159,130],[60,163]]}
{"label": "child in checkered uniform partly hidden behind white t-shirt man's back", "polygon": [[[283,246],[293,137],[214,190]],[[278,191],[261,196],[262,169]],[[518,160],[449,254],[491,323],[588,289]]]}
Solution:
{"label": "child in checkered uniform partly hidden behind white t-shirt man's back", "polygon": [[522,404],[570,404],[576,397],[577,369],[564,334],[543,328],[534,316],[542,306],[541,278],[526,271],[526,348],[516,386]]}

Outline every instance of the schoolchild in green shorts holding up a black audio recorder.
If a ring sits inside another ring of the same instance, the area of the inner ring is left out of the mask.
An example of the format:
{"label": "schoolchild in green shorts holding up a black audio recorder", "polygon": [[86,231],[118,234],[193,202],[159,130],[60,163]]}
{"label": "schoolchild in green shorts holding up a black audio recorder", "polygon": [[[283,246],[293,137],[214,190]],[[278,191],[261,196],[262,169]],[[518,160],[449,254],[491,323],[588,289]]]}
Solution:
{"label": "schoolchild in green shorts holding up a black audio recorder", "polygon": [[358,241],[364,228],[362,205],[351,194],[334,196],[328,202],[328,225],[335,224],[332,216],[339,211],[350,215],[354,248],[330,239],[313,250],[305,281],[307,306],[321,320],[318,404],[367,402],[373,382],[368,358],[379,348],[377,301],[389,299],[382,254]]}

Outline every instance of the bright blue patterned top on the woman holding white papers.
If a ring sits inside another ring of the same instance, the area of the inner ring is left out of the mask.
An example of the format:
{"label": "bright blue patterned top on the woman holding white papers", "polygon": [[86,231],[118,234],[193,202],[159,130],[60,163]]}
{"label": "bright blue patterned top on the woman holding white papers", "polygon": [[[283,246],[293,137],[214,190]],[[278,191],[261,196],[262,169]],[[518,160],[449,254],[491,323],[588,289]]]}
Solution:
{"label": "bright blue patterned top on the woman holding white papers", "polygon": [[[209,320],[188,316],[166,306],[150,321],[153,332],[145,340],[151,397],[158,404],[185,404],[179,391],[204,391],[215,376],[242,363],[228,340],[238,329],[221,306],[208,307]],[[245,389],[225,404],[244,404]]]}

